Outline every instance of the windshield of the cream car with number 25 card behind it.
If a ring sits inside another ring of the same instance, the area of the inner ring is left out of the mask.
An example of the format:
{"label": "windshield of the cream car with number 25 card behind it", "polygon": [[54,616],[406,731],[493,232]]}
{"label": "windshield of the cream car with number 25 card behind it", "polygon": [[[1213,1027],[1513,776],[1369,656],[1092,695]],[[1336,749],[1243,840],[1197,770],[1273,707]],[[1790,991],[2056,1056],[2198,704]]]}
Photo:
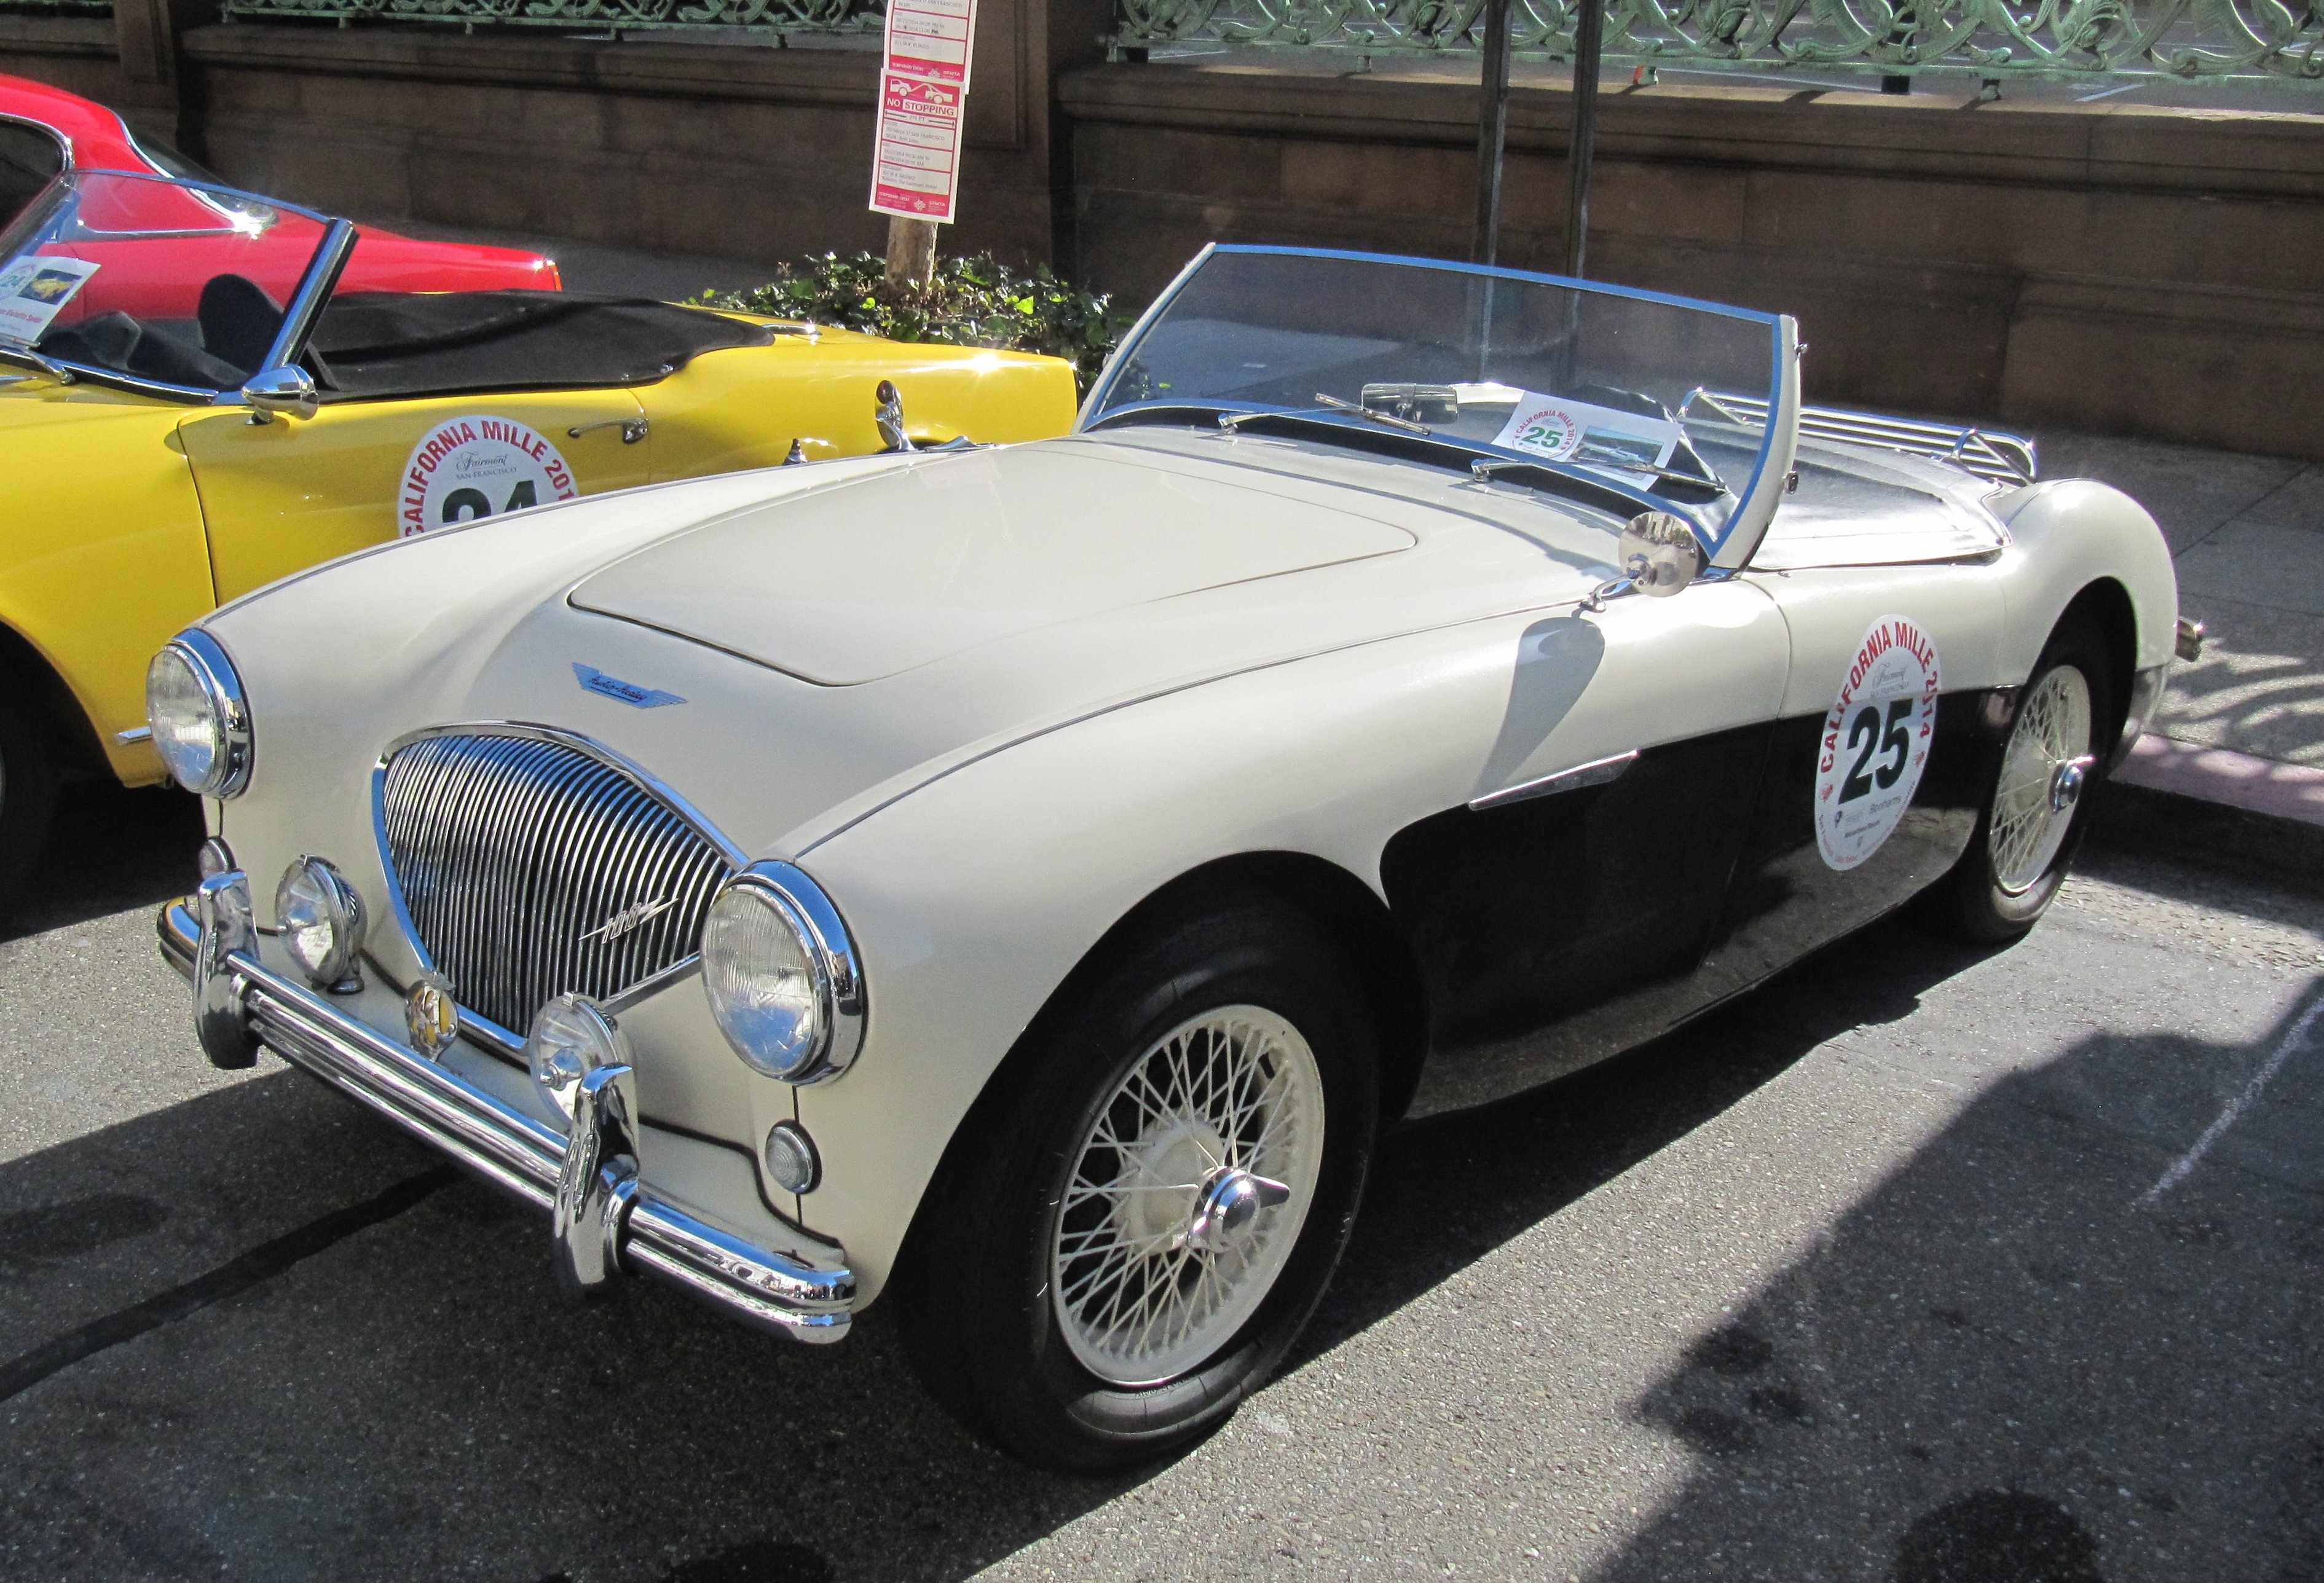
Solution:
{"label": "windshield of the cream car with number 25 card behind it", "polygon": [[1796,407],[1789,344],[1776,314],[1620,286],[1215,246],[1122,344],[1081,428],[1274,414],[1257,428],[1371,449],[1406,435],[1485,477],[1673,511],[1717,553],[1738,525],[1764,528],[1789,432],[1703,393]]}

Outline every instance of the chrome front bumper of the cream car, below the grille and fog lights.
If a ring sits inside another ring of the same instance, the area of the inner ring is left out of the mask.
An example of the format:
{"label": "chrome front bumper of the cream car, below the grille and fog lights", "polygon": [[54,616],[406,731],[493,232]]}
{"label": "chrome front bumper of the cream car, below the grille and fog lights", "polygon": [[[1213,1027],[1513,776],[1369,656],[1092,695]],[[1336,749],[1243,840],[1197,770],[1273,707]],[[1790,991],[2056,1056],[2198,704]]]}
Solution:
{"label": "chrome front bumper of the cream car, below the grille and fog lights", "polygon": [[[205,1032],[223,1034],[232,1023],[535,1209],[553,1209],[565,1137],[265,967],[253,948],[237,944],[246,934],[235,925],[249,927],[246,895],[239,872],[207,881],[205,911],[221,914],[207,934],[184,902],[170,902],[156,918],[163,960],[195,983]],[[855,1272],[837,1244],[806,1234],[799,1241],[806,1246],[758,1248],[641,1186],[611,1253],[762,1330],[837,1341],[853,1318]]]}

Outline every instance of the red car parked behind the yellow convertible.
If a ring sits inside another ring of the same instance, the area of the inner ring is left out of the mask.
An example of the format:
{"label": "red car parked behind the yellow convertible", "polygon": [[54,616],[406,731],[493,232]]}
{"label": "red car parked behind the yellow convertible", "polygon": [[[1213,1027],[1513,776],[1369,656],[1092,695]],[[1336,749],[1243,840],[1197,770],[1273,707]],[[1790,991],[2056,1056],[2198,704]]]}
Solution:
{"label": "red car parked behind the yellow convertible", "polygon": [[[60,170],[151,170],[216,181],[167,144],[142,139],[105,105],[26,77],[0,77],[0,228]],[[211,216],[211,223],[214,216]],[[511,246],[418,242],[358,228],[342,291],[560,291],[553,258]],[[304,253],[300,253],[300,265]],[[293,267],[295,277],[295,267]]]}

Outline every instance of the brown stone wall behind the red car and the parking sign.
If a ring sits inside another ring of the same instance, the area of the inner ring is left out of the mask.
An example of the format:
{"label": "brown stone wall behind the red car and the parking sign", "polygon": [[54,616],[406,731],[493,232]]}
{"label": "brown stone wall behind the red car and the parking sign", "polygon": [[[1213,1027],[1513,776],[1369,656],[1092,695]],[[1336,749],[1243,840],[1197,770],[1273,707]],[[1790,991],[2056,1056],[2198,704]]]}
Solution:
{"label": "brown stone wall behind the red car and the parking sign", "polygon": [[[130,40],[158,37],[149,74],[167,77],[167,105],[132,121],[230,181],[370,221],[765,260],[885,244],[865,209],[876,37],[769,49],[218,23],[214,0],[119,0],[116,14],[119,63],[102,60],[114,23],[72,23],[86,37],[67,53],[0,16],[0,72],[128,109],[156,98],[130,81]],[[1067,188],[1050,86],[1097,58],[1106,14],[1106,0],[983,0],[964,219],[946,246],[1053,256]]]}

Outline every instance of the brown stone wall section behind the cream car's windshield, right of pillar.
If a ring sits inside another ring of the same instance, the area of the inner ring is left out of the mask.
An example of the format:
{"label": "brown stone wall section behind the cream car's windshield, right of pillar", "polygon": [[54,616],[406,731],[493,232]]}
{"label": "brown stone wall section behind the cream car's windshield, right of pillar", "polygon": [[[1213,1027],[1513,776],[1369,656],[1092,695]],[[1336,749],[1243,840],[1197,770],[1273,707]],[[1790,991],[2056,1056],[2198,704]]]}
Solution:
{"label": "brown stone wall section behind the cream car's windshield, right of pillar", "polygon": [[[1127,300],[1206,239],[1466,256],[1473,84],[1113,65],[1060,102],[1076,265]],[[1796,314],[1810,400],[2324,456],[2324,114],[1599,105],[1590,272]],[[1504,263],[1564,258],[1566,119],[1511,98]]]}

